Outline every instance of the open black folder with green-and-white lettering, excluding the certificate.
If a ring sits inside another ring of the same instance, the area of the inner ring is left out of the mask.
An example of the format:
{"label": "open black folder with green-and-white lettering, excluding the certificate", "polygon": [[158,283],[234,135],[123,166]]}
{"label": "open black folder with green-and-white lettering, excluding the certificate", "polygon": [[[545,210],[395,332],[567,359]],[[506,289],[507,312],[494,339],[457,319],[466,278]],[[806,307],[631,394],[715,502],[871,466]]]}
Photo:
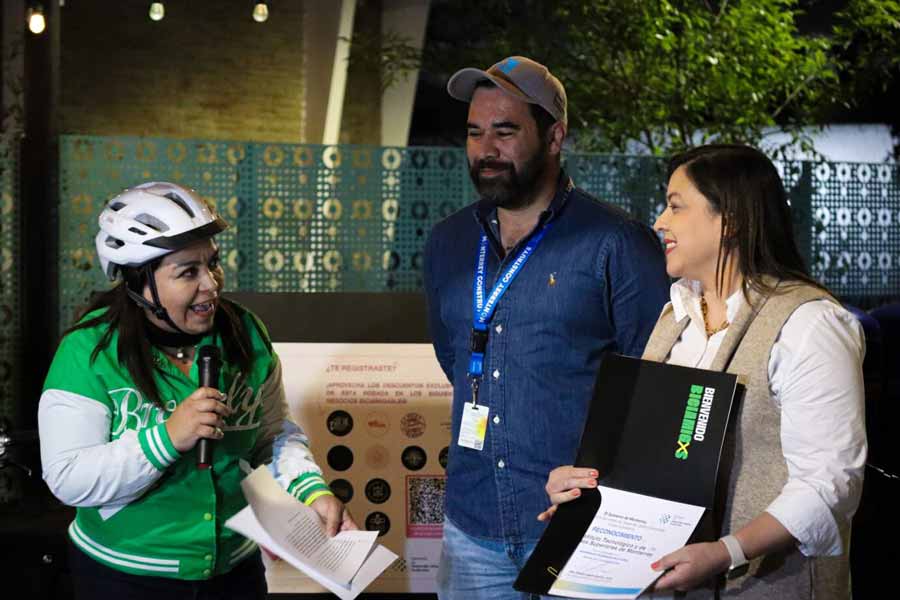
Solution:
{"label": "open black folder with green-and-white lettering, excluding the certificate", "polygon": [[[609,354],[574,464],[596,468],[601,486],[711,509],[737,391],[736,375]],[[516,590],[552,587],[603,502],[599,490],[583,492],[559,506]]]}

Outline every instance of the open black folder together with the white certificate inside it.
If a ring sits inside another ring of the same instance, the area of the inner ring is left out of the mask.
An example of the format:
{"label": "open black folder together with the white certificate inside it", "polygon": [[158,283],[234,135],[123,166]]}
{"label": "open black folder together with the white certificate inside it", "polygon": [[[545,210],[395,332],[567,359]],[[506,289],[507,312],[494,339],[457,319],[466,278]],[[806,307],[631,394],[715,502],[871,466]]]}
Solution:
{"label": "open black folder together with the white certificate inside it", "polygon": [[646,590],[661,574],[650,564],[713,508],[737,391],[729,373],[607,355],[574,463],[598,470],[597,489],[559,506],[515,589],[597,599]]}

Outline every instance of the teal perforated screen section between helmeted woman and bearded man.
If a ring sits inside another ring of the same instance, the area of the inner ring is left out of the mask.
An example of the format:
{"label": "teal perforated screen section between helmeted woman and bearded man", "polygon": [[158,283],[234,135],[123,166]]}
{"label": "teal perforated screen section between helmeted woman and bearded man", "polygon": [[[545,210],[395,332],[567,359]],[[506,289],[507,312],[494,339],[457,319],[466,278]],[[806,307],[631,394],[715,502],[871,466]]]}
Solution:
{"label": "teal perforated screen section between helmeted woman and bearded man", "polygon": [[232,290],[417,290],[431,225],[474,200],[456,148],[63,136],[61,327],[108,285],[93,247],[104,202],[148,180],[196,189],[231,223],[217,239]]}

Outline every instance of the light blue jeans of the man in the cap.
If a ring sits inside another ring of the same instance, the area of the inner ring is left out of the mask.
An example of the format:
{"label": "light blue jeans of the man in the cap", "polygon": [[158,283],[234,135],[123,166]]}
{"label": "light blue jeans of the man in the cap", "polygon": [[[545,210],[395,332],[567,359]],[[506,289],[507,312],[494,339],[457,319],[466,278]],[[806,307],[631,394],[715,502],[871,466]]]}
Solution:
{"label": "light blue jeans of the man in the cap", "polygon": [[438,568],[440,600],[537,600],[561,596],[538,596],[513,589],[513,581],[525,566],[534,542],[508,544],[466,535],[444,518],[444,540]]}

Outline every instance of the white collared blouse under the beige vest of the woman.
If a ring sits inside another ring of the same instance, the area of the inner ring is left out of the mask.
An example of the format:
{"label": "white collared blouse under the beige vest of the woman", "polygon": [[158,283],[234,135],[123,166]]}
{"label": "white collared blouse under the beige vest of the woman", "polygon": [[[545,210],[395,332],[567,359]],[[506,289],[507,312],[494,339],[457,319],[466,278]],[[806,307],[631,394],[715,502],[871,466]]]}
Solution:
{"label": "white collared blouse under the beige vest of the woman", "polygon": [[[675,319],[690,324],[666,362],[709,368],[728,329],[706,337],[700,284],[682,279],[671,288]],[[726,300],[728,321],[746,300]],[[788,481],[766,508],[798,540],[806,556],[846,552],[848,530],[862,493],[866,462],[862,326],[827,300],[801,305],[785,322],[769,356],[769,391],[781,411],[781,446]]]}

